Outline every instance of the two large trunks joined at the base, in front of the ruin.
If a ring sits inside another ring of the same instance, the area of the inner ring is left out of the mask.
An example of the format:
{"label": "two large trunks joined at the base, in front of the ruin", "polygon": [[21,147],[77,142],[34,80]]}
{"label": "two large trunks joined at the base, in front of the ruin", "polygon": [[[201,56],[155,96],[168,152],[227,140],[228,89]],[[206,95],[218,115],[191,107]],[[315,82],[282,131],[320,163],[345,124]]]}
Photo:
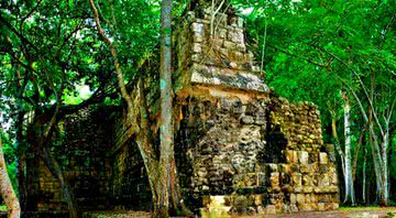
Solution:
{"label": "two large trunks joined at the base, in front of the ruin", "polygon": [[[112,42],[105,34],[100,25],[100,17],[94,0],[89,0],[95,15],[98,34],[110,48],[114,58],[117,78],[122,98],[128,105],[128,126],[136,137],[136,143],[145,164],[148,183],[153,194],[154,217],[168,217],[170,209],[186,209],[180,200],[176,164],[174,157],[174,130],[173,130],[173,92],[172,92],[172,0],[162,2],[161,11],[161,115],[160,115],[160,157],[154,150],[154,141],[148,128],[148,112],[143,92],[142,79],[139,79],[138,87],[131,94],[128,92],[122,69],[118,62],[117,50]],[[136,91],[139,90],[139,91]],[[135,95],[139,95],[138,97]],[[140,117],[139,117],[140,116]],[[138,117],[140,119],[138,119]],[[187,212],[186,212],[187,211]],[[187,214],[189,215],[189,214]]]}

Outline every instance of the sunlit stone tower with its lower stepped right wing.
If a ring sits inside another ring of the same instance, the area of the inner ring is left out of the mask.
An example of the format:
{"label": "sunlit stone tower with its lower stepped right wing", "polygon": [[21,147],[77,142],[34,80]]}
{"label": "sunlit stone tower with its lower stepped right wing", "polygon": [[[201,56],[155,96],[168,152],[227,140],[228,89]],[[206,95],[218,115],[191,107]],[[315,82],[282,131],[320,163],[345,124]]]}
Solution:
{"label": "sunlit stone tower with its lower stepped right wing", "polygon": [[338,208],[333,149],[323,144],[317,106],[277,97],[246,47],[243,20],[228,2],[191,2],[173,39],[187,203],[202,216]]}

